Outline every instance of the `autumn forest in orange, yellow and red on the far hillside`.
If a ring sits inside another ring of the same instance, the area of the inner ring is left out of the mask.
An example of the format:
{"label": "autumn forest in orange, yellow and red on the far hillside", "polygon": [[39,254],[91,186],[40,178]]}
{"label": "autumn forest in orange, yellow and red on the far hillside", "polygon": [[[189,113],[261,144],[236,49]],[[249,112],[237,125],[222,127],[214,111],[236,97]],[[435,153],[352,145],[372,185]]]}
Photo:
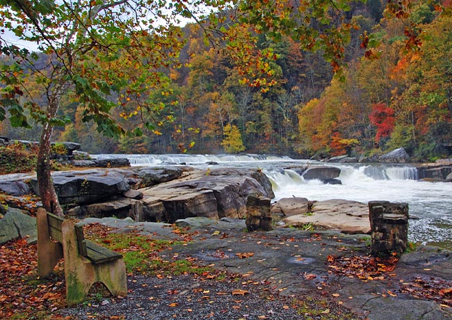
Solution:
{"label": "autumn forest in orange, yellow and red on the far hillside", "polygon": [[[341,77],[333,77],[334,65],[322,51],[303,51],[285,35],[258,35],[257,46],[275,56],[268,63],[271,86],[248,83],[234,57],[207,42],[200,24],[188,23],[181,28],[177,63],[159,67],[159,86],[137,99],[109,97],[121,101],[112,111],[115,120],[140,134],[103,136],[95,122],[83,121],[84,106],[68,87],[58,110],[67,121],[56,126],[52,139],[81,143],[90,153],[246,152],[309,159],[371,157],[405,147],[419,161],[451,157],[451,1],[415,0],[408,10],[393,8],[395,15],[388,10],[386,1],[350,3]],[[52,59],[36,55],[38,63]],[[8,63],[8,57],[0,59]],[[35,101],[45,99],[40,81],[26,81]],[[140,112],[140,101],[152,108]],[[0,122],[0,136],[36,140],[39,132],[38,123],[24,129]]]}

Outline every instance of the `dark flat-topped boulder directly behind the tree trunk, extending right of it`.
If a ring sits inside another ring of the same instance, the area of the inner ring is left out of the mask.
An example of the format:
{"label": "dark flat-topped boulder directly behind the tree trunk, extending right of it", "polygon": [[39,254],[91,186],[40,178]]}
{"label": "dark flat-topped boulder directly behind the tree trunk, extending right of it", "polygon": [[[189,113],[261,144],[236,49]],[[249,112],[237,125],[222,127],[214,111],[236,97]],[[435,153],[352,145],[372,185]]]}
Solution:
{"label": "dark flat-topped boulder directly behind the tree trunk, extending right of it", "polygon": [[[52,179],[61,205],[99,202],[130,189],[122,175],[108,170],[58,172]],[[32,179],[31,185],[39,195],[38,180]]]}

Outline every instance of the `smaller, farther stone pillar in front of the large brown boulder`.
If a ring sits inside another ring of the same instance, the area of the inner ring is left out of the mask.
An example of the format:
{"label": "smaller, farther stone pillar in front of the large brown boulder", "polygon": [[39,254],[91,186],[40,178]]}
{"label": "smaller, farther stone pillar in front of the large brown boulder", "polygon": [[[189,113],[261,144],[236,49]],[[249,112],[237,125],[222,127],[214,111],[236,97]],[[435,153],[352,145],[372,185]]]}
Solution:
{"label": "smaller, farther stone pillar in front of the large brown boulder", "polygon": [[271,226],[270,199],[249,195],[246,200],[246,228],[248,231],[269,231]]}

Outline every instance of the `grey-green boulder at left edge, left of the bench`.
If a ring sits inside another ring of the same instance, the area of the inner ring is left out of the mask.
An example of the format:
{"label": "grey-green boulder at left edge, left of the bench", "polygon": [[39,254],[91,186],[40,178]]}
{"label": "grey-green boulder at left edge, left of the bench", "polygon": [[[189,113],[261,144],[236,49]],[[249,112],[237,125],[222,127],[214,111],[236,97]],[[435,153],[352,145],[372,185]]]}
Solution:
{"label": "grey-green boulder at left edge, left of the bench", "polygon": [[37,237],[36,219],[20,209],[10,208],[0,220],[0,244],[18,238]]}

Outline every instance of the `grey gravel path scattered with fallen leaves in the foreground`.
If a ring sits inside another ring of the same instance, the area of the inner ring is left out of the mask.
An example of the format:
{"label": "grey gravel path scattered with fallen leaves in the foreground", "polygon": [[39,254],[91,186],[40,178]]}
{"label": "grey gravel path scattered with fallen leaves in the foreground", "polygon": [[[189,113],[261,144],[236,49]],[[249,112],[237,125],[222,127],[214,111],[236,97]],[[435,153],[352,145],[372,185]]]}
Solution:
{"label": "grey gravel path scattered with fallen leaves in the foreground", "polygon": [[126,298],[103,298],[60,312],[74,319],[362,319],[336,303],[279,296],[266,283],[180,275],[129,276]]}

